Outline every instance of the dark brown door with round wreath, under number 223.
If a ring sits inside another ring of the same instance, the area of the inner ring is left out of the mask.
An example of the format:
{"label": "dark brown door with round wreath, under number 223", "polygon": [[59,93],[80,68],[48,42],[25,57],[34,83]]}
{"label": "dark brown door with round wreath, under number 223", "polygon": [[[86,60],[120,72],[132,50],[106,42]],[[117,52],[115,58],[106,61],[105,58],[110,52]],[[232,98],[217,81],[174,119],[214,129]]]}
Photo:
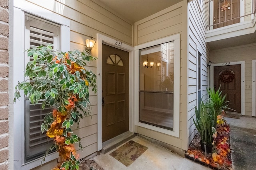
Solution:
{"label": "dark brown door with round wreath, under number 223", "polygon": [[241,65],[214,66],[214,89],[219,86],[222,95],[227,94],[226,101],[231,109],[226,111],[241,113]]}

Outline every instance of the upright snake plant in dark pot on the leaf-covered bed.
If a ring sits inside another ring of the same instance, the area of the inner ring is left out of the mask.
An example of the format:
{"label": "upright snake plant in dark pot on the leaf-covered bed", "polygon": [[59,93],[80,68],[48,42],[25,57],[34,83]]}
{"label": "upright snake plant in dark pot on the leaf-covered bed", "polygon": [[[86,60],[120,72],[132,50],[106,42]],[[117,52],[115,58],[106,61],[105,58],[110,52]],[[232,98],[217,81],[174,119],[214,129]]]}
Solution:
{"label": "upright snake plant in dark pot on the leaf-covered bed", "polygon": [[200,133],[201,137],[201,149],[205,151],[204,144],[206,144],[207,153],[212,152],[212,127],[214,127],[214,119],[210,116],[209,109],[206,107],[204,102],[201,102],[199,109],[195,107],[196,120],[194,120],[194,124],[196,125],[196,129]]}

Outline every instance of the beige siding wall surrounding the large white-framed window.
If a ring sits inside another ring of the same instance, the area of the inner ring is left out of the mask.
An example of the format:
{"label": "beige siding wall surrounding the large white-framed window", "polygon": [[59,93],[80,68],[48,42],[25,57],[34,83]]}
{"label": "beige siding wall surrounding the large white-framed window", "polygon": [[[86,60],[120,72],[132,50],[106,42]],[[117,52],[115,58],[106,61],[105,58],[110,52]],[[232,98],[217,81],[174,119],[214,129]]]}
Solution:
{"label": "beige siding wall surrounding the large white-framed window", "polygon": [[[187,2],[182,1],[166,8],[152,16],[134,23],[134,44],[140,45],[170,35],[180,34],[180,138],[165,135],[143,127],[138,127],[138,133],[152,137],[186,150],[186,75],[187,75]],[[175,50],[175,49],[174,49]],[[174,120],[175,121],[175,120]]]}

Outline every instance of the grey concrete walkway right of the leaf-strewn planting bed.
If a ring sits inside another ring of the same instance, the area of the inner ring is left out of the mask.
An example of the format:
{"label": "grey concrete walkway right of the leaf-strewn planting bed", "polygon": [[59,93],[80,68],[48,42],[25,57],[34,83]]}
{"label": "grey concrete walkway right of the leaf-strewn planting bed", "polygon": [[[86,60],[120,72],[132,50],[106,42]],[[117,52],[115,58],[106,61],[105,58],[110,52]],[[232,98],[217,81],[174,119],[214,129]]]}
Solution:
{"label": "grey concrete walkway right of the leaf-strewn planting bed", "polygon": [[230,124],[230,145],[234,170],[256,170],[256,118],[225,117]]}

